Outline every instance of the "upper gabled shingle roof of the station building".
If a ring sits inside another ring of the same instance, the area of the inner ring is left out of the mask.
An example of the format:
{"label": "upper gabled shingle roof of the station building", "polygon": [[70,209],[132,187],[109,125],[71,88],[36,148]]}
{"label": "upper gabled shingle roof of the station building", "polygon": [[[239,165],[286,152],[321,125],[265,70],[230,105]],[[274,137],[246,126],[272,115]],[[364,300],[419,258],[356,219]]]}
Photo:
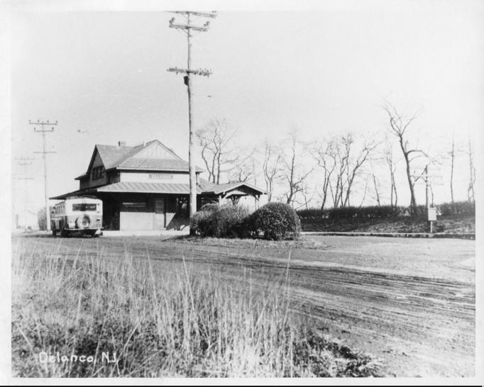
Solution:
{"label": "upper gabled shingle roof of the station building", "polygon": [[[159,158],[159,157],[136,157],[143,150],[148,147],[158,145],[162,147],[171,158]],[[134,170],[160,170],[170,172],[188,172],[188,162],[178,156],[173,150],[158,140],[146,142],[142,145],[135,147],[116,146],[116,145],[100,145],[97,144],[94,147],[91,161],[87,171],[91,169],[92,163],[96,153],[99,153],[101,161],[104,165],[104,169],[134,169]],[[196,172],[203,172],[200,167],[196,167]],[[77,176],[76,180],[82,179],[87,176],[87,172]]]}

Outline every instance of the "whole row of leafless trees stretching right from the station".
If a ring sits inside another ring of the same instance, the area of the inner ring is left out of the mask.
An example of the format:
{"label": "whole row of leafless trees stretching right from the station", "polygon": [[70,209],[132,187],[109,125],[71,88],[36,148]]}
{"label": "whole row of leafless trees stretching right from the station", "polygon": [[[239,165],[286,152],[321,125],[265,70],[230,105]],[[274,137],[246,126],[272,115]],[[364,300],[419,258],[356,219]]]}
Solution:
{"label": "whole row of leafless trees stretching right from the station", "polygon": [[[431,180],[429,169],[443,168],[449,168],[446,186],[453,203],[456,159],[463,156],[468,162],[467,198],[475,201],[471,140],[462,146],[452,138],[448,151],[431,153],[417,146],[415,140],[414,122],[419,113],[405,116],[390,103],[385,103],[383,111],[387,120],[383,140],[347,132],[308,143],[301,140],[297,128],[292,128],[285,138],[266,139],[251,150],[242,150],[236,130],[229,128],[226,120],[214,119],[197,130],[197,141],[209,181],[215,184],[242,181],[265,187],[268,201],[277,199],[295,208],[309,208],[314,202],[321,209],[361,206],[368,197],[381,206],[383,196],[396,207],[400,194],[397,179],[405,177],[409,207],[416,209],[415,185]],[[400,162],[405,176],[397,176]],[[380,173],[375,172],[375,166]],[[316,172],[317,177],[313,178]],[[429,189],[433,197],[432,184]],[[356,191],[360,203],[353,203]],[[426,197],[426,204],[429,200],[433,202]]]}

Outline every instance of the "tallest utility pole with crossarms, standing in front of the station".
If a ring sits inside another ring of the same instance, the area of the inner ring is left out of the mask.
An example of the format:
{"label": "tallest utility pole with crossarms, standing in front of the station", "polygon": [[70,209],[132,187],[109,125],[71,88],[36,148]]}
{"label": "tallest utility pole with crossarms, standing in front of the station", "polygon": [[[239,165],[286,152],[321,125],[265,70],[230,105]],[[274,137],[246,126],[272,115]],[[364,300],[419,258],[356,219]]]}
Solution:
{"label": "tallest utility pole with crossarms, standing in front of the station", "polygon": [[[175,18],[170,20],[170,28],[180,29],[187,34],[187,45],[188,45],[188,57],[187,57],[187,68],[183,69],[180,67],[170,67],[167,71],[175,72],[176,74],[185,74],[183,81],[187,86],[188,91],[188,125],[189,125],[189,143],[188,143],[188,170],[189,170],[189,187],[190,187],[190,198],[189,198],[189,213],[190,218],[197,212],[197,176],[195,174],[195,164],[194,164],[194,120],[193,120],[193,85],[192,85],[192,75],[202,75],[204,77],[209,77],[211,72],[208,69],[192,69],[192,31],[206,32],[209,29],[210,22],[207,21],[203,26],[194,26],[192,24],[192,16],[197,16],[200,18],[215,18],[216,12],[211,13],[204,12],[194,12],[194,11],[175,11],[185,17],[186,24],[175,23]],[[190,230],[192,232],[192,230]]]}

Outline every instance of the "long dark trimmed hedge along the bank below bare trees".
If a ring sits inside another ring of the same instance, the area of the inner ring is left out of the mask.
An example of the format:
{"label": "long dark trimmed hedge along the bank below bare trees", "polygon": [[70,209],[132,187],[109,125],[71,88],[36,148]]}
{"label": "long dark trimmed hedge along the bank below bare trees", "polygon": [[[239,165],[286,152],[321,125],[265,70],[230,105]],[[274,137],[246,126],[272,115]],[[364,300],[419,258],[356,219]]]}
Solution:
{"label": "long dark trimmed hedge along the bank below bare trees", "polygon": [[[456,203],[441,203],[436,206],[439,215],[475,215],[475,202],[460,201]],[[400,216],[425,216],[427,208],[417,206],[414,213],[410,207],[405,206],[365,206],[365,207],[341,207],[321,210],[311,208],[299,210],[297,215],[302,220],[319,219],[346,219],[346,218],[395,218]]]}

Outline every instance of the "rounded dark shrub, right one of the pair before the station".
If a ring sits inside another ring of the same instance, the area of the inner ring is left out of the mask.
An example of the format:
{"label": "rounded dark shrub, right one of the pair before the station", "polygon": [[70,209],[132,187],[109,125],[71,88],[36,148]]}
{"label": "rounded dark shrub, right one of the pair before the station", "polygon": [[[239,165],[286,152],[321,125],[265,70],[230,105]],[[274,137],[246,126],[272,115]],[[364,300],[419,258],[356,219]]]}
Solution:
{"label": "rounded dark shrub, right one of the pair before the station", "polygon": [[262,234],[267,240],[295,239],[301,232],[301,221],[287,204],[271,202],[251,215],[248,228],[255,237]]}

